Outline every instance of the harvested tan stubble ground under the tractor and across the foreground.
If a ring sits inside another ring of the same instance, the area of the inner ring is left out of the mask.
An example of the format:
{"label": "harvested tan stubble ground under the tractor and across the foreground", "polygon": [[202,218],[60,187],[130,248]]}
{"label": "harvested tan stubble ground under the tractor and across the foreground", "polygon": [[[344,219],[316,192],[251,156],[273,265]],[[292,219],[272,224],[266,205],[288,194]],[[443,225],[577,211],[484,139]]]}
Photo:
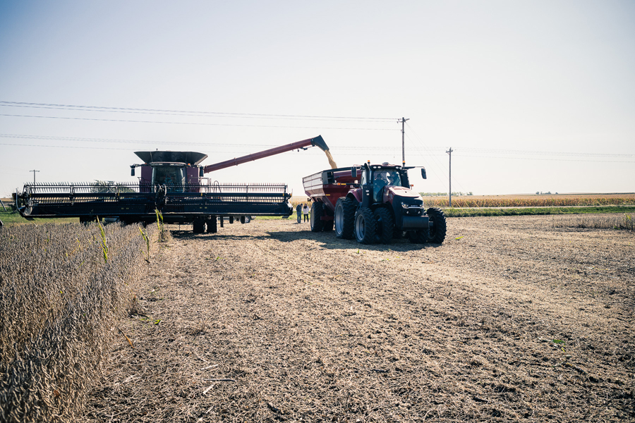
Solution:
{"label": "harvested tan stubble ground under the tractor and across the foreground", "polygon": [[552,219],[174,226],[84,421],[633,422],[635,236]]}

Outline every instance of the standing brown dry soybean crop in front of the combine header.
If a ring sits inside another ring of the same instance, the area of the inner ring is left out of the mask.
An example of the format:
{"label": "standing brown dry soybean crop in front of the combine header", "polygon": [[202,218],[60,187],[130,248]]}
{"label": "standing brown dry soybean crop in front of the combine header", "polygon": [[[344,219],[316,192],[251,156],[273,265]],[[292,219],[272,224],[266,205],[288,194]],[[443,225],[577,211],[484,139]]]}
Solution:
{"label": "standing brown dry soybean crop in front of the combine header", "polygon": [[69,422],[83,409],[144,260],[137,226],[103,229],[0,229],[0,421]]}

